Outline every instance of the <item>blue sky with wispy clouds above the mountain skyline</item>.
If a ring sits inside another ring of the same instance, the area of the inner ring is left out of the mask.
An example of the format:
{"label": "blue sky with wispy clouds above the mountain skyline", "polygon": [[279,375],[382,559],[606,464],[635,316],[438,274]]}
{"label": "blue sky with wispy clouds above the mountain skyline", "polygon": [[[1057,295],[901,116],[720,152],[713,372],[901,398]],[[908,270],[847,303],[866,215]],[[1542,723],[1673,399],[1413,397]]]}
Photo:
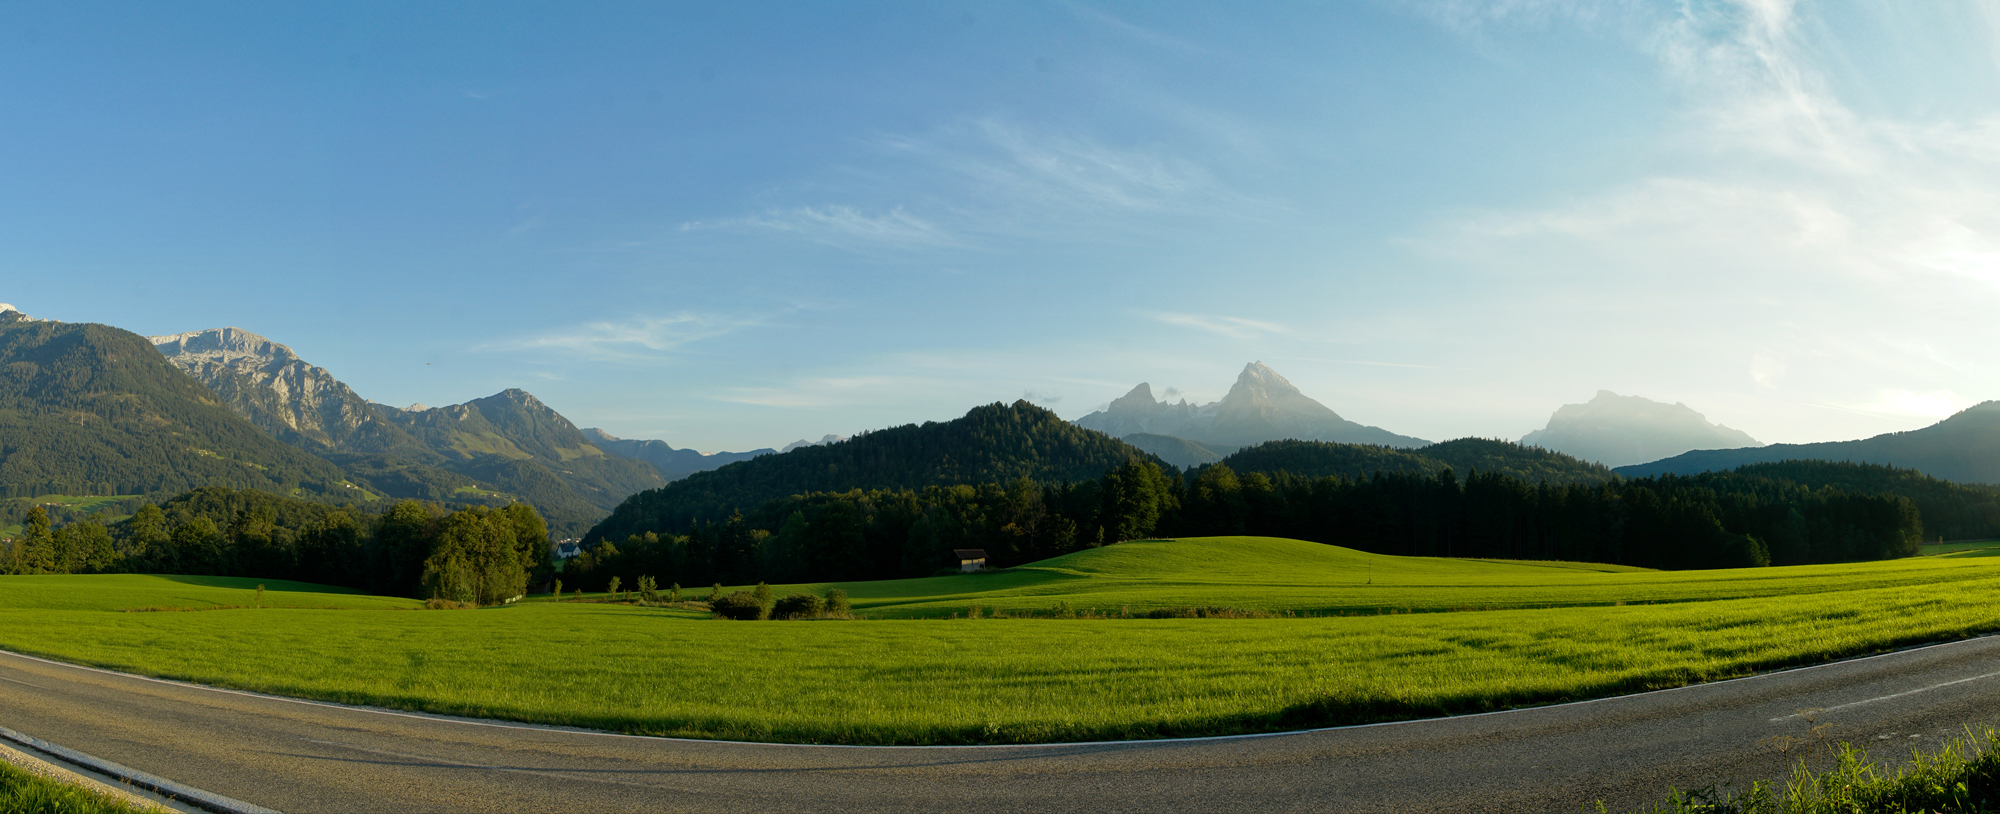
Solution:
{"label": "blue sky with wispy clouds above the mountain skyline", "polygon": [[2000,398],[2000,8],[10,4],[0,302],[742,450],[1262,360],[1520,438]]}

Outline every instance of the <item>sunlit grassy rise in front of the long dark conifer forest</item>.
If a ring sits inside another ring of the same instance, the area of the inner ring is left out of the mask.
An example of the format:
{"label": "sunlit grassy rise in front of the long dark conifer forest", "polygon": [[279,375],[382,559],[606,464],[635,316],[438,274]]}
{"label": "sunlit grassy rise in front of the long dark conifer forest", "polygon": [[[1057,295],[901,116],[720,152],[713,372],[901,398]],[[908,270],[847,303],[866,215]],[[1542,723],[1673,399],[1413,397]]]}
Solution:
{"label": "sunlit grassy rise in front of the long dark conifer forest", "polygon": [[[1446,560],[1364,554],[1300,540],[1144,540],[1032,566],[922,580],[838,584],[868,618],[1046,614],[1058,602],[1120,610],[1220,606],[1296,616],[1712,602],[1924,586],[1986,578],[1954,558],[1838,566],[1658,572],[1592,562]],[[1994,572],[1992,576],[2000,576]],[[776,594],[834,584],[776,586]],[[740,590],[740,586],[724,588]],[[682,594],[708,596],[708,588]]]}

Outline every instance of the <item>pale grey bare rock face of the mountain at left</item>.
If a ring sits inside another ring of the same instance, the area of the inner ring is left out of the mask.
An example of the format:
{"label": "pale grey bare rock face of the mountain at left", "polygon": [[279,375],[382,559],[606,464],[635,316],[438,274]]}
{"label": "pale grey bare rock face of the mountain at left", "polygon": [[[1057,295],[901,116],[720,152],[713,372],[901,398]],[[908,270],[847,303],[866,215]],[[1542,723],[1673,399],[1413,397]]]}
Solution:
{"label": "pale grey bare rock face of the mountain at left", "polygon": [[238,416],[308,450],[394,452],[434,458],[326,368],[242,328],[150,336],[170,362],[206,384]]}

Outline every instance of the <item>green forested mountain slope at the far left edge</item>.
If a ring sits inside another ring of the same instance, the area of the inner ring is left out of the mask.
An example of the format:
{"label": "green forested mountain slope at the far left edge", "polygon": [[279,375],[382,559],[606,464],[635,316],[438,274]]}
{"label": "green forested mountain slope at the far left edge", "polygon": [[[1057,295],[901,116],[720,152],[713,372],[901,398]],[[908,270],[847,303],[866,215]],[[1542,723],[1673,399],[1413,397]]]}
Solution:
{"label": "green forested mountain slope at the far left edge", "polygon": [[0,312],[0,488],[178,494],[230,484],[358,494],[334,464],[230,412],[144,336]]}

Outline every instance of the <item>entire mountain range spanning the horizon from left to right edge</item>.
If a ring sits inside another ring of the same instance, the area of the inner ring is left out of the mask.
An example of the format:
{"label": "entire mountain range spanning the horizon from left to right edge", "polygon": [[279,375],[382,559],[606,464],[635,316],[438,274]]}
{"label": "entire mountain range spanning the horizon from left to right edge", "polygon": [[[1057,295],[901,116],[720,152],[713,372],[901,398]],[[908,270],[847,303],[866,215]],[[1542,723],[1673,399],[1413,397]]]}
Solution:
{"label": "entire mountain range spanning the horizon from left to right edge", "polygon": [[1062,422],[1066,430],[1046,426],[1054,420],[1046,410],[994,404],[944,424],[720,454],[580,430],[524,390],[442,408],[374,404],[284,344],[238,328],[144,338],[102,324],[34,320],[0,304],[0,496],[236,486],[332,502],[372,494],[460,504],[518,498],[542,510],[556,534],[582,534],[632,496],[666,496],[664,504],[646,500],[690,518],[794,494],[786,490],[1082,480],[1128,456],[1180,468],[1228,462],[1242,472],[1452,468],[1600,482],[1608,474],[1588,460],[1664,450],[1668,458],[1616,472],[1690,474],[1822,458],[2000,482],[2000,402],[1924,430],[1752,446],[1754,438],[1684,404],[1598,392],[1522,438],[1544,452],[1486,440],[1428,444],[1348,422],[1262,362],[1248,364],[1218,402],[1168,404],[1140,384],[1106,410]]}

